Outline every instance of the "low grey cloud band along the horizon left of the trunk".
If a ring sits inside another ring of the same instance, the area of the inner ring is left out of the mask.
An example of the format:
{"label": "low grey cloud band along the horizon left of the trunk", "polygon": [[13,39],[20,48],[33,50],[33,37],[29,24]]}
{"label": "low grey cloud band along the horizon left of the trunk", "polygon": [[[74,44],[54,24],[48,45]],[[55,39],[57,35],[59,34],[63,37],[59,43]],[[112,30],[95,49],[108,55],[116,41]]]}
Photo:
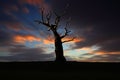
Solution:
{"label": "low grey cloud band along the horizon left of the trunk", "polygon": [[52,54],[26,53],[16,54],[14,56],[1,56],[0,61],[53,61]]}

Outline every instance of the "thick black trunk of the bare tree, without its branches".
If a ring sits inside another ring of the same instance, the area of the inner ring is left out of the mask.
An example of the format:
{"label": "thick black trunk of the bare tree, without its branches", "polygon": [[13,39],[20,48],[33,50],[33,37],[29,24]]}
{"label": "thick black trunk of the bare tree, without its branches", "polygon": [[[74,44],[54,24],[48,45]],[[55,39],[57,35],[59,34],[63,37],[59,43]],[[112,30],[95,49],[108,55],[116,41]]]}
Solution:
{"label": "thick black trunk of the bare tree, without its branches", "polygon": [[55,54],[56,54],[56,62],[65,62],[66,59],[63,54],[63,46],[60,35],[57,31],[53,31],[55,37]]}

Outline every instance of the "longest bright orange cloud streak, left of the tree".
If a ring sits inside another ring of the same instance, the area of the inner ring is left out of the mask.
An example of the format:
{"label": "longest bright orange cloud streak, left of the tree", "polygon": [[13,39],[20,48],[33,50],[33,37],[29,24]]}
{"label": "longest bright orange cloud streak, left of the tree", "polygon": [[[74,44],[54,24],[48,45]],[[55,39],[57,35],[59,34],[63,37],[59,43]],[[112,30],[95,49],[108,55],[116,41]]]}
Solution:
{"label": "longest bright orange cloud streak, left of the tree", "polygon": [[14,36],[13,40],[14,42],[17,42],[17,43],[25,43],[26,41],[29,41],[29,42],[41,41],[41,38],[35,37],[32,35],[27,35],[27,36],[17,35],[17,36]]}

